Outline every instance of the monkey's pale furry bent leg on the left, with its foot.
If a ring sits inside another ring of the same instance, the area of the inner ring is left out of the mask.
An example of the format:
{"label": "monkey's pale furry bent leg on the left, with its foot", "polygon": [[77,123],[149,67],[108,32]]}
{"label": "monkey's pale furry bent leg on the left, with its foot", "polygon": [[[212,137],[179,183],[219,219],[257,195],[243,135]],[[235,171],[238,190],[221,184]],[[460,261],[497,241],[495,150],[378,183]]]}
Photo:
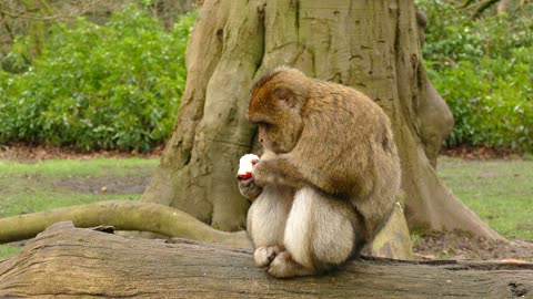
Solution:
{"label": "monkey's pale furry bent leg on the left, with its foot", "polygon": [[283,235],[294,192],[285,186],[269,185],[248,210],[247,229],[252,239],[253,259],[266,267],[284,250]]}

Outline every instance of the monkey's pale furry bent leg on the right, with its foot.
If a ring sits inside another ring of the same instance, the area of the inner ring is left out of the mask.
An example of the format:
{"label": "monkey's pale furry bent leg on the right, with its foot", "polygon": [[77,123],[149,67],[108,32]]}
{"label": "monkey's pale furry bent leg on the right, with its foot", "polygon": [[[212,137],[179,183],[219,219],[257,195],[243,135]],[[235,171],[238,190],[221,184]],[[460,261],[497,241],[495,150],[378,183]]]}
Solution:
{"label": "monkey's pale furry bent leg on the right, with its foot", "polygon": [[355,228],[359,219],[353,206],[313,188],[302,188],[286,220],[285,252],[270,264],[276,278],[323,272],[345,260],[361,243]]}

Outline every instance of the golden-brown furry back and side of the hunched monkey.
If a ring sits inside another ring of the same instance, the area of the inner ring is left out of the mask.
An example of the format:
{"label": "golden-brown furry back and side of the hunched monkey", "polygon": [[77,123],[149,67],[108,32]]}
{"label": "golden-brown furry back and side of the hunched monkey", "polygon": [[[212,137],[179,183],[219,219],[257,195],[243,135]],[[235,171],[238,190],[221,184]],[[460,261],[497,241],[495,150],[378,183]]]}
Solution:
{"label": "golden-brown furry back and side of the hunched monkey", "polygon": [[341,193],[363,215],[371,239],[392,212],[401,171],[391,122],[363,93],[310,80],[303,110],[306,126],[294,148],[299,167],[324,190]]}

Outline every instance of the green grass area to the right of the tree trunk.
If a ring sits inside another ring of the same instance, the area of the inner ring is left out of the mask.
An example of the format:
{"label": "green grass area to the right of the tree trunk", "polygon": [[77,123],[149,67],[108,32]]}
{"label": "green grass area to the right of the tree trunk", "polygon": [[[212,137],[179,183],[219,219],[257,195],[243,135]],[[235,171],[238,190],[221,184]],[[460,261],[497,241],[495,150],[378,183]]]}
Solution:
{"label": "green grass area to the right of the tree trunk", "polygon": [[504,237],[533,239],[533,161],[441,157],[447,187]]}

